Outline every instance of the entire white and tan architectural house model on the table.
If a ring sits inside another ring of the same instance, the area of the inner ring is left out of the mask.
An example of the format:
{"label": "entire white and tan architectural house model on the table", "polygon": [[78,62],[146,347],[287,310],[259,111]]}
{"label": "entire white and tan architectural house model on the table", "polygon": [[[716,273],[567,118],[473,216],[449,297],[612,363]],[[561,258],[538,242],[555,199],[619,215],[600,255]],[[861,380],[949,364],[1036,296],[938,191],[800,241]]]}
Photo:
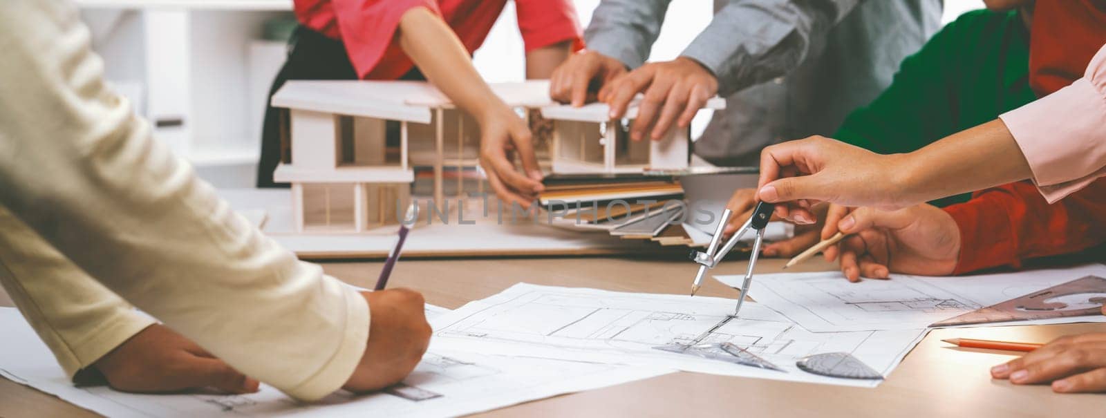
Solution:
{"label": "entire white and tan architectural house model on the table", "polygon": [[[676,127],[662,140],[629,140],[605,104],[582,107],[549,98],[547,81],[492,84],[520,115],[552,121],[543,166],[554,173],[633,173],[688,167],[689,133]],[[411,199],[415,166],[431,167],[432,201],[445,199],[446,168],[481,173],[479,129],[437,88],[424,82],[290,81],[272,97],[286,108],[282,161],[273,179],[292,185],[300,233],[363,232],[398,222]],[[722,108],[712,98],[708,108]],[[528,112],[529,111],[529,112]],[[637,106],[627,111],[627,119]],[[466,197],[461,177],[453,196]],[[482,180],[477,190],[483,191]],[[425,208],[429,209],[429,207]]]}

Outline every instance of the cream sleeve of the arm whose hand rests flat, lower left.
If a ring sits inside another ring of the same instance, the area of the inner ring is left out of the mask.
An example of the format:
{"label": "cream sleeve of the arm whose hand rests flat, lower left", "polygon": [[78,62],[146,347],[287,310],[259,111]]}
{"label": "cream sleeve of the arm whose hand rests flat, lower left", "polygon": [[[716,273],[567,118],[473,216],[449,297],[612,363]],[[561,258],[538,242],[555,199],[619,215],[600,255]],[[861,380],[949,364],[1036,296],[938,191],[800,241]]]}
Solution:
{"label": "cream sleeve of the arm whose hand rests flat, lower left", "polygon": [[154,323],[2,206],[0,285],[70,378]]}

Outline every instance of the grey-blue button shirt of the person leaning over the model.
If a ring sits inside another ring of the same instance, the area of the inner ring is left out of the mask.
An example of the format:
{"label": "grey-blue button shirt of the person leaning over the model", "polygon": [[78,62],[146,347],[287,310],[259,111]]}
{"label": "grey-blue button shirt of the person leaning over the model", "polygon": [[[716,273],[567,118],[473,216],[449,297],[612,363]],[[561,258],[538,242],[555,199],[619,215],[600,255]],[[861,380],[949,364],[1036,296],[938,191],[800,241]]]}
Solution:
{"label": "grey-blue button shirt of the person leaning over the model", "polygon": [[[584,32],[587,48],[640,66],[669,2],[603,0]],[[764,146],[833,134],[937,32],[941,8],[941,0],[716,0],[714,18],[681,53],[713,72],[727,96],[695,153],[755,166]]]}

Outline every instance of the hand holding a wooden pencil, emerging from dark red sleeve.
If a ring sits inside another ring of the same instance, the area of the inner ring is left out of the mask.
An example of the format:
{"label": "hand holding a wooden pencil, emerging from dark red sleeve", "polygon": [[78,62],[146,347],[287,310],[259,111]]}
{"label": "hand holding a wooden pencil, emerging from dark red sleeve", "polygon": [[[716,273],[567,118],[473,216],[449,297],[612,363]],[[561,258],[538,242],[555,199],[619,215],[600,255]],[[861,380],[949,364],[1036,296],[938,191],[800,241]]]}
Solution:
{"label": "hand holding a wooden pencil, emerging from dark red sleeve", "polygon": [[858,208],[837,222],[837,229],[854,236],[826,259],[833,261],[839,253],[841,271],[851,282],[860,276],[887,279],[891,271],[948,275],[960,255],[960,228],[952,216],[931,205],[894,211]]}

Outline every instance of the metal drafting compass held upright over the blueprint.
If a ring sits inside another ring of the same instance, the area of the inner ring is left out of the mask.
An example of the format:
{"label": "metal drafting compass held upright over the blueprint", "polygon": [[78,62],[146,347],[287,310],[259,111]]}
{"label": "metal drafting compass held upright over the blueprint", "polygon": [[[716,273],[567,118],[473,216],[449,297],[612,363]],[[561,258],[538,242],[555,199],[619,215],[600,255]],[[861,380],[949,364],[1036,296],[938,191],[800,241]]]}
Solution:
{"label": "metal drafting compass held upright over the blueprint", "polygon": [[699,272],[695,275],[695,282],[691,284],[691,295],[695,296],[695,292],[699,290],[699,285],[702,283],[702,278],[707,275],[707,270],[713,269],[718,265],[726,254],[733,249],[733,245],[741,240],[741,237],[745,234],[750,229],[757,231],[757,238],[753,241],[753,251],[749,255],[749,269],[745,271],[745,279],[741,283],[741,296],[738,297],[738,306],[733,309],[733,315],[737,316],[738,312],[741,311],[741,304],[745,300],[745,294],[749,293],[749,284],[753,280],[753,269],[757,268],[757,258],[760,255],[761,242],[764,241],[764,227],[768,226],[769,219],[772,218],[772,210],[775,209],[775,205],[758,202],[757,207],[753,208],[753,216],[745,221],[741,229],[730,237],[729,241],[726,241],[726,245],[721,249],[718,248],[718,243],[722,240],[722,231],[726,229],[726,223],[730,221],[730,217],[733,212],[730,209],[722,211],[722,220],[718,222],[718,228],[714,229],[714,236],[710,238],[710,245],[707,247],[707,252],[692,251],[691,260],[699,263]]}

